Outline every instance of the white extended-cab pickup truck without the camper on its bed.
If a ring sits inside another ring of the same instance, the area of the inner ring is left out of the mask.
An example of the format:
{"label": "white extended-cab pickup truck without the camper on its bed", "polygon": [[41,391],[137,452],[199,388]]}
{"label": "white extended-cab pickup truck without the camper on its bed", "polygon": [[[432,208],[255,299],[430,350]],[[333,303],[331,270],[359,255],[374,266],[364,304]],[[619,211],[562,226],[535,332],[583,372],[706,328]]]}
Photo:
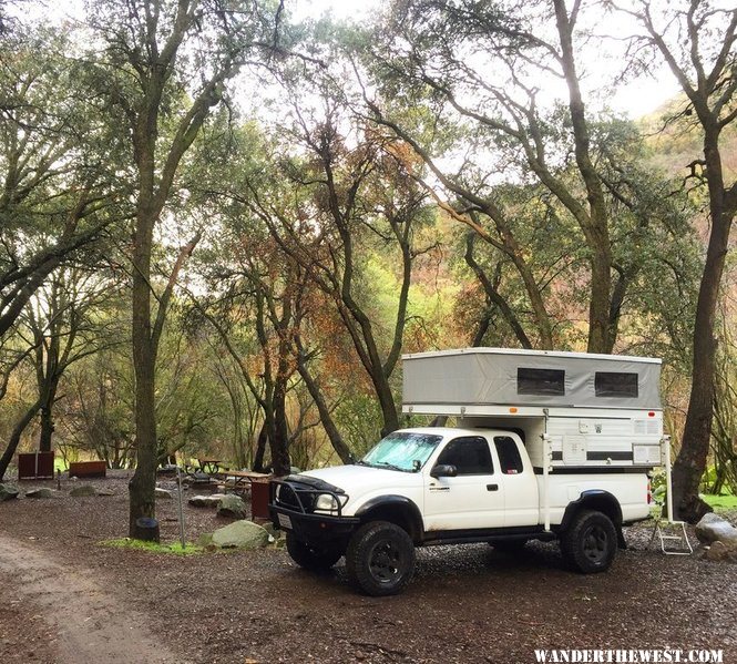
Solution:
{"label": "white extended-cab pickup truck without the camper on its bed", "polygon": [[355,464],[273,482],[270,512],[297,564],[327,569],[345,555],[350,581],[370,595],[400,592],[414,548],[428,544],[514,551],[557,538],[571,566],[603,572],[624,546],[622,525],[649,514],[644,472],[553,474],[545,530],[542,481],[516,432],[405,429]]}

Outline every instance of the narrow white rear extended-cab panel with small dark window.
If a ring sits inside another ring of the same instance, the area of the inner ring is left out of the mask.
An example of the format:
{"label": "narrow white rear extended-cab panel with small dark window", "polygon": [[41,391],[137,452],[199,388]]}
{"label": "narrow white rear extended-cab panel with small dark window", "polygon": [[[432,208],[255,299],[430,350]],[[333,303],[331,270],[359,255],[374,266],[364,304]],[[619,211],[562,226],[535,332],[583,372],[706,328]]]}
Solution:
{"label": "narrow white rear extended-cab panel with small dark window", "polygon": [[504,525],[536,525],[540,523],[538,480],[522,441],[513,433],[494,436],[494,448],[504,493]]}

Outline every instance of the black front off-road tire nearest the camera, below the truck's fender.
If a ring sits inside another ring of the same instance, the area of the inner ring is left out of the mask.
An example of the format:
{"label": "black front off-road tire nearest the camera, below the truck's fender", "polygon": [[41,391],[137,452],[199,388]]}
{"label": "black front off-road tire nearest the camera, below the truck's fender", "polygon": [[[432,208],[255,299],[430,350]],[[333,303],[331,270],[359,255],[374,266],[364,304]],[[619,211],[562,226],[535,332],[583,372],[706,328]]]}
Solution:
{"label": "black front off-road tire nearest the camera, below the truck's fender", "polygon": [[351,584],[371,596],[401,592],[414,573],[414,544],[388,521],[370,521],[350,539],[346,571]]}

